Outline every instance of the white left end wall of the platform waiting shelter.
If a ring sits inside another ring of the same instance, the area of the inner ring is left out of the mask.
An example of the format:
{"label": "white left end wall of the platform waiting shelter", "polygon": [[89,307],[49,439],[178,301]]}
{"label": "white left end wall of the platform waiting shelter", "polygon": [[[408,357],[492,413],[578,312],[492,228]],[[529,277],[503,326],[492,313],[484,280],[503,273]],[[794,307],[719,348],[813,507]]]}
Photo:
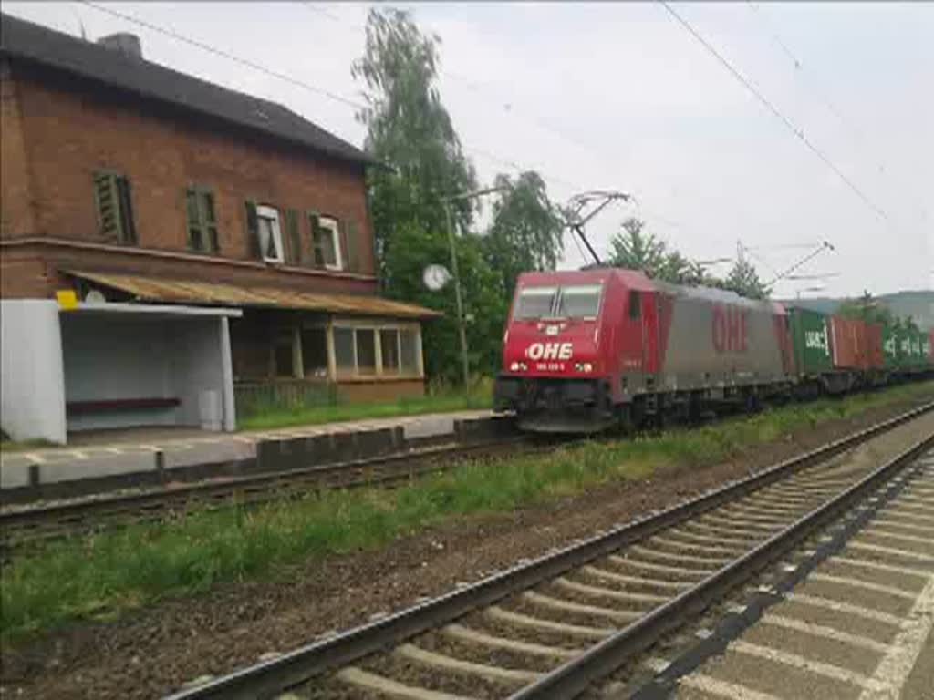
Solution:
{"label": "white left end wall of the platform waiting shelter", "polygon": [[0,424],[13,440],[64,444],[59,307],[41,299],[0,301]]}

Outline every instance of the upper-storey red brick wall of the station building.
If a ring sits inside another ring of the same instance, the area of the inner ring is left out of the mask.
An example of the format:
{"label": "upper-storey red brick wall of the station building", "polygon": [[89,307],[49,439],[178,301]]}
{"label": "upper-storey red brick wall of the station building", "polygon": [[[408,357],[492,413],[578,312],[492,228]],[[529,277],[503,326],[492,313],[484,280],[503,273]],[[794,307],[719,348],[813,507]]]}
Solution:
{"label": "upper-storey red brick wall of the station building", "polygon": [[[361,231],[361,273],[374,274],[361,166],[19,63],[13,77],[32,177],[17,169],[14,152],[7,178],[5,128],[5,236],[100,241],[92,173],[109,169],[130,179],[140,248],[187,249],[184,190],[198,184],[214,190],[223,258],[250,259],[244,203],[254,199],[355,221]],[[5,127],[7,111],[16,116],[14,107],[7,109],[5,100]],[[10,123],[15,132],[16,120]],[[15,143],[8,147],[15,148]],[[28,198],[17,196],[27,181],[33,185],[35,224],[21,204]]]}

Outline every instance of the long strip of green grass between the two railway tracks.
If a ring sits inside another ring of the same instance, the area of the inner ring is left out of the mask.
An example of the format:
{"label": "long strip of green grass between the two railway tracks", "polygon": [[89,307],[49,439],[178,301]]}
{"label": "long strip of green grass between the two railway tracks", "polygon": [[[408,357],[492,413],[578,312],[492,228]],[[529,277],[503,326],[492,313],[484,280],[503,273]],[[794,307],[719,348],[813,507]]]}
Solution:
{"label": "long strip of green grass between the two railway tracks", "polygon": [[374,549],[452,517],[643,480],[661,465],[715,464],[793,430],[922,396],[934,396],[934,382],[658,436],[578,444],[545,456],[470,462],[399,489],[326,492],[251,510],[232,506],[51,543],[0,571],[0,637],[15,641],[64,623],[112,619],[164,597],[204,593],[219,582],[275,576],[329,553]]}

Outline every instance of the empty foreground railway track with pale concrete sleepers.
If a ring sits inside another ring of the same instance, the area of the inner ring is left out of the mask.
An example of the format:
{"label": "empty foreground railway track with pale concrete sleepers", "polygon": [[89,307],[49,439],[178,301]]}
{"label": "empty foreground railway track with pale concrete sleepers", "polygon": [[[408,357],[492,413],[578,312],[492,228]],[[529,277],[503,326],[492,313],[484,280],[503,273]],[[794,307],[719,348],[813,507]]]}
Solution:
{"label": "empty foreground railway track with pale concrete sleepers", "polygon": [[934,430],[882,465],[847,453],[932,408],[172,698],[570,698],[603,679],[618,692],[611,677],[644,668],[659,640],[911,471]]}

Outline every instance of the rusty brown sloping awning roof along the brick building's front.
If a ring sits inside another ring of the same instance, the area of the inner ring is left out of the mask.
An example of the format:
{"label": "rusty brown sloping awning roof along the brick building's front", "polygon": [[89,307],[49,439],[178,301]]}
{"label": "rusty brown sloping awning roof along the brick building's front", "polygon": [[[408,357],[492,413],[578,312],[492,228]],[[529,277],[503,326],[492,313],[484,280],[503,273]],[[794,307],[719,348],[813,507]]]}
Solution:
{"label": "rusty brown sloping awning roof along the brick building's front", "polygon": [[120,289],[143,301],[259,306],[397,318],[431,318],[442,315],[424,306],[391,301],[381,297],[316,294],[279,287],[237,287],[228,284],[144,277],[135,274],[95,273],[80,270],[66,272],[104,287]]}

